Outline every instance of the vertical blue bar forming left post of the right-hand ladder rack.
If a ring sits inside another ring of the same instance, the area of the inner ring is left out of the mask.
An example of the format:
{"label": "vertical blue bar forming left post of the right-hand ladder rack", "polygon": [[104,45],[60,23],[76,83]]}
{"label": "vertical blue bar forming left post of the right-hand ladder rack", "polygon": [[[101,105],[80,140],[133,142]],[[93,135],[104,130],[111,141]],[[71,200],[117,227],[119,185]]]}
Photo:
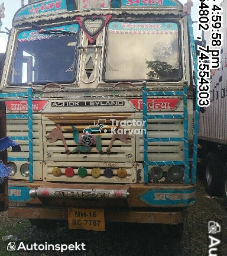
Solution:
{"label": "vertical blue bar forming left post of the right-hand ladder rack", "polygon": [[148,183],[148,152],[147,152],[147,88],[142,88],[142,101],[143,101],[143,136],[144,136],[144,182]]}

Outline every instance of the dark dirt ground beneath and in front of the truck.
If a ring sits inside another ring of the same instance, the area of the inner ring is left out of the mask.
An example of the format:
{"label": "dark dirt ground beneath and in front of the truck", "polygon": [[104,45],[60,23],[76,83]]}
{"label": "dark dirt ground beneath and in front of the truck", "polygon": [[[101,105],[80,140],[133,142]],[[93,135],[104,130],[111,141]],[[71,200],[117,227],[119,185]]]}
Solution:
{"label": "dark dirt ground beneath and in front of the truck", "polygon": [[[15,235],[24,243],[85,243],[86,251],[35,252],[6,250],[7,242],[0,240],[0,255],[81,255],[81,256],[206,256],[208,255],[208,221],[221,224],[221,251],[227,255],[227,211],[221,197],[207,196],[202,181],[197,182],[197,203],[185,210],[185,222],[181,240],[172,233],[163,233],[162,225],[109,224],[107,231],[95,232],[37,229],[28,220],[8,219],[0,213],[0,239]],[[19,244],[19,241],[16,242]]]}

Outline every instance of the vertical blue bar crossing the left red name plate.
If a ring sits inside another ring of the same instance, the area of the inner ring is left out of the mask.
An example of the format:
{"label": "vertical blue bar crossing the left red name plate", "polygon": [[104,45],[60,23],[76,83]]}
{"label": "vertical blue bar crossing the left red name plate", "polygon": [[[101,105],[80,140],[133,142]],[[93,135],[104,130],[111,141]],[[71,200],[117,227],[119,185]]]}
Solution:
{"label": "vertical blue bar crossing the left red name plate", "polygon": [[28,88],[29,182],[33,182],[32,88]]}

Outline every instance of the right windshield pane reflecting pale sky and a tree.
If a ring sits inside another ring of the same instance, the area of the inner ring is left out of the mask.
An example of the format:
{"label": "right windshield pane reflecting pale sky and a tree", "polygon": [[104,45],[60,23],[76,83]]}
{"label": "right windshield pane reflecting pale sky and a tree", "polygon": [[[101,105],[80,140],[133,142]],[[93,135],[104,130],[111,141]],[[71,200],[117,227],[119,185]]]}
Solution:
{"label": "right windshield pane reflecting pale sky and a tree", "polygon": [[173,22],[111,22],[105,81],[178,81],[178,26]]}

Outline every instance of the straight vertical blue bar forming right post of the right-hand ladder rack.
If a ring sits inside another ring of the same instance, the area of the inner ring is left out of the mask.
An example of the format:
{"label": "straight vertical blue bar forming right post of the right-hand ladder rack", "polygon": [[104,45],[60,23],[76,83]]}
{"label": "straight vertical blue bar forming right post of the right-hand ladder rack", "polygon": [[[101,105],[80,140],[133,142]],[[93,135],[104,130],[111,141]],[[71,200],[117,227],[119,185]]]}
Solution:
{"label": "straight vertical blue bar forming right post of the right-hand ladder rack", "polygon": [[188,159],[188,85],[184,85],[184,174],[185,184],[189,184],[189,159]]}

